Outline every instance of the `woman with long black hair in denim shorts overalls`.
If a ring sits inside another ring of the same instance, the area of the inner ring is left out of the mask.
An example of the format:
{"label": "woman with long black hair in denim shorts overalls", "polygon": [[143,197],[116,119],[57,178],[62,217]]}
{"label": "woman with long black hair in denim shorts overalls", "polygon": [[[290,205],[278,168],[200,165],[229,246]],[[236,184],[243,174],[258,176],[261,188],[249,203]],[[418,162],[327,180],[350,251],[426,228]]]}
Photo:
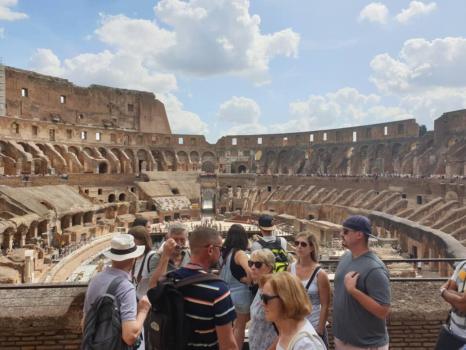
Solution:
{"label": "woman with long black hair in denim shorts overalls", "polygon": [[248,265],[248,256],[245,253],[248,243],[248,235],[244,227],[238,224],[232,225],[223,243],[227,250],[220,258],[220,276],[230,287],[234,309],[238,316],[233,327],[233,335],[238,349],[243,349],[244,333],[246,323],[250,318],[252,303],[249,290],[249,283],[252,280],[251,269]]}

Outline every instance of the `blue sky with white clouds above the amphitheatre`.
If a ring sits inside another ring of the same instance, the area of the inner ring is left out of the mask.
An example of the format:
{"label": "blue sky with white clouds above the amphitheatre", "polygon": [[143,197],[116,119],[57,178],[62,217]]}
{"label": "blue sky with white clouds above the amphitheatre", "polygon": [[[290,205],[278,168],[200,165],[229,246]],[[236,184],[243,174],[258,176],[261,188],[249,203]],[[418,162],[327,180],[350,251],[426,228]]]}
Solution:
{"label": "blue sky with white clouds above the amphitheatre", "polygon": [[408,118],[432,130],[466,108],[465,13],[463,0],[0,0],[0,56],[152,91],[173,133],[211,143]]}

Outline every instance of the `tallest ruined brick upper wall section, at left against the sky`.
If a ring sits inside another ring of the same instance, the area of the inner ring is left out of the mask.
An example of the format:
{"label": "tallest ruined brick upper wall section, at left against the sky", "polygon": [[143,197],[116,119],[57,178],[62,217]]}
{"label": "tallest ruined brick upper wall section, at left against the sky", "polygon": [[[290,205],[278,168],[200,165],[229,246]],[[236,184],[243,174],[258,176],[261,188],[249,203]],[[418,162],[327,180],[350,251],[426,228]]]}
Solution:
{"label": "tallest ruined brick upper wall section, at left against the sky", "polygon": [[91,85],[5,67],[6,115],[171,134],[165,106],[152,92]]}

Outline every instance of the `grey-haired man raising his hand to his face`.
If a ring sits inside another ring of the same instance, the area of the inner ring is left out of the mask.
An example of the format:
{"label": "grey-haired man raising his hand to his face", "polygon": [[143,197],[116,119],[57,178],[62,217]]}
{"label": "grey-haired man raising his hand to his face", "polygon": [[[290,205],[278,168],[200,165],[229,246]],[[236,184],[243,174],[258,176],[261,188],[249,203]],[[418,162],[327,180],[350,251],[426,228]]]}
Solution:
{"label": "grey-haired man raising his hand to his face", "polygon": [[149,261],[149,287],[157,285],[159,278],[167,272],[186,265],[190,254],[186,247],[188,227],[181,222],[173,222],[168,227],[162,253],[157,252]]}

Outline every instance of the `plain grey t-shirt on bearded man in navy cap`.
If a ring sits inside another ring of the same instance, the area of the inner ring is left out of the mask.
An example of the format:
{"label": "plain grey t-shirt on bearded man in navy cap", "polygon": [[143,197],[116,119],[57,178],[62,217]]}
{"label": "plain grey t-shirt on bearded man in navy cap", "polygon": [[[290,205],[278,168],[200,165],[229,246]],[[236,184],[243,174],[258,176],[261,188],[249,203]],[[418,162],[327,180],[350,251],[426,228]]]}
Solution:
{"label": "plain grey t-shirt on bearded man in navy cap", "polygon": [[373,251],[354,259],[350,251],[343,254],[335,272],[333,284],[332,333],[343,342],[360,348],[377,348],[388,344],[386,320],[368,312],[345,286],[345,276],[360,274],[356,288],[377,303],[390,306],[391,287],[384,263]]}

